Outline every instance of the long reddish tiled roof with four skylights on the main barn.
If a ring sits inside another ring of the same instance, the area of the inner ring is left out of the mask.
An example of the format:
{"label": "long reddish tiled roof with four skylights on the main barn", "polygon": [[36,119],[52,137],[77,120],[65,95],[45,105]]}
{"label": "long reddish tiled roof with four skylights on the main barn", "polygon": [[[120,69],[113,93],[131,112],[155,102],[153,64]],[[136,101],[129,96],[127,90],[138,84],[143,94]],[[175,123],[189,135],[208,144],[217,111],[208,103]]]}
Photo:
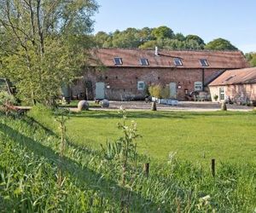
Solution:
{"label": "long reddish tiled roof with four skylights on the main barn", "polygon": [[[200,59],[206,59],[208,66],[205,68],[236,69],[248,67],[247,60],[241,51],[209,51],[209,50],[159,50],[159,55],[154,55],[154,50],[145,49],[94,49],[91,66],[97,66],[96,61],[101,61],[103,66],[115,66],[114,57],[120,57],[122,67],[142,67],[140,59],[148,59],[149,67],[177,67],[177,68],[202,68]],[[173,59],[180,58],[182,66],[175,66]]]}

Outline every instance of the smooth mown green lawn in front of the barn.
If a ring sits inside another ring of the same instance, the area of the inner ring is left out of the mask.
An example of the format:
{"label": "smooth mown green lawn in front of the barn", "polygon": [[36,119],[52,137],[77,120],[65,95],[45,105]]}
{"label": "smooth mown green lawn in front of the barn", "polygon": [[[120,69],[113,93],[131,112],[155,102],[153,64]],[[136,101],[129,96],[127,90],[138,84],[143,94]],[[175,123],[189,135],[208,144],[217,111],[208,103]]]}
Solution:
{"label": "smooth mown green lawn in front of the barn", "polygon": [[[140,153],[167,160],[177,157],[206,163],[217,160],[256,160],[255,112],[128,112],[137,122]],[[82,112],[67,123],[72,141],[90,147],[113,141],[121,135],[117,129],[118,112]]]}

